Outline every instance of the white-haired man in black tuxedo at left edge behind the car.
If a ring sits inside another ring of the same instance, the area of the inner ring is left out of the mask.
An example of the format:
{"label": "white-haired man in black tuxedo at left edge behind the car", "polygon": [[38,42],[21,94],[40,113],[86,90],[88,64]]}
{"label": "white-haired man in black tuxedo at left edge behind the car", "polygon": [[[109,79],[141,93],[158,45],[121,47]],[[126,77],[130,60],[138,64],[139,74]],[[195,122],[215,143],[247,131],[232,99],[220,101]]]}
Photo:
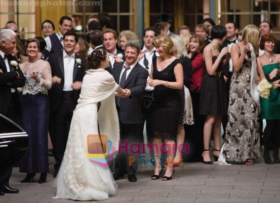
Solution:
{"label": "white-haired man in black tuxedo at left edge behind the car", "polygon": [[[11,29],[0,30],[0,113],[14,122],[20,115],[20,100],[17,87],[25,84],[25,77],[21,72],[17,59],[11,55],[16,45],[16,33]],[[9,129],[11,126],[2,126]],[[3,154],[0,154],[3,157]],[[18,157],[20,159],[21,157]],[[5,160],[1,163],[5,167],[0,168],[0,195],[5,193],[18,193],[18,189],[9,186],[9,179],[12,174],[13,164],[18,160]]]}

